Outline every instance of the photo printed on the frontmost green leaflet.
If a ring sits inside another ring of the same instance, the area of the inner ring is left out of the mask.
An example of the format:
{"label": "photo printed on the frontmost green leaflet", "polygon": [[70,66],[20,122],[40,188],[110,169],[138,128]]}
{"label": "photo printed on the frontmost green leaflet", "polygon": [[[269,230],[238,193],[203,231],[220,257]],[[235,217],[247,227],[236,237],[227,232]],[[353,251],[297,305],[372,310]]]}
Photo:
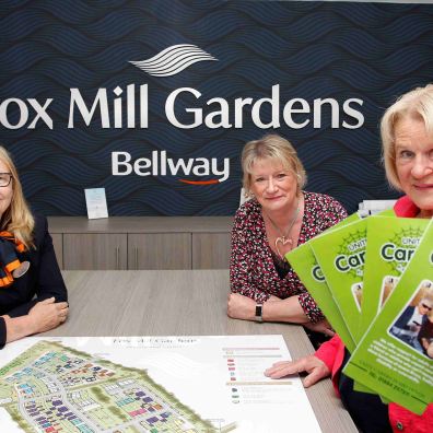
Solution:
{"label": "photo printed on the frontmost green leaflet", "polygon": [[433,359],[433,282],[423,280],[388,333]]}

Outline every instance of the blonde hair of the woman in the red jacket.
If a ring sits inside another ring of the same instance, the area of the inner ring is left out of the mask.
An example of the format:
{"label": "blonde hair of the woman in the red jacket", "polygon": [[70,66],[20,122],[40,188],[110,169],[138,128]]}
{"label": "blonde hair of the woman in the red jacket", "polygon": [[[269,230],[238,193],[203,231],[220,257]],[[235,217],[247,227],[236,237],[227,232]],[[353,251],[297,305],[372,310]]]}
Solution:
{"label": "blonde hair of the woman in the red jacket", "polygon": [[396,166],[395,127],[401,118],[424,122],[426,133],[433,138],[433,84],[417,87],[400,96],[384,114],[381,121],[383,160],[388,182],[401,189]]}

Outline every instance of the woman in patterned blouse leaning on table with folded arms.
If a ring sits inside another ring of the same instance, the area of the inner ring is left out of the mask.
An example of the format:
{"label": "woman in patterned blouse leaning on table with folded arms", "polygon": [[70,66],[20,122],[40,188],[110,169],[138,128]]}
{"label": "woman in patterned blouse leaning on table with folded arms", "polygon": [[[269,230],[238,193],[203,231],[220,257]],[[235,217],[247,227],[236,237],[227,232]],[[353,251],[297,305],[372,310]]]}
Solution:
{"label": "woman in patterned blouse leaning on table with folded arms", "polygon": [[250,200],[237,210],[232,231],[229,316],[333,335],[284,255],[343,220],[344,208],[303,190],[306,175],[296,151],[277,134],[246,143],[242,167]]}

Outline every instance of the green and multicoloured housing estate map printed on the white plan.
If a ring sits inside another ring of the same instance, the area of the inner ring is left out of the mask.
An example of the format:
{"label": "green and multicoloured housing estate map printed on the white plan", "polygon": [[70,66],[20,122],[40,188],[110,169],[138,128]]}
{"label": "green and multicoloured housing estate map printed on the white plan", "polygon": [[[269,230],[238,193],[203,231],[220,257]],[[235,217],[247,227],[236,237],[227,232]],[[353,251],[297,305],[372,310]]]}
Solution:
{"label": "green and multicoloured housing estate map printed on the white plan", "polygon": [[0,370],[0,407],[25,432],[214,432],[143,370],[40,341]]}

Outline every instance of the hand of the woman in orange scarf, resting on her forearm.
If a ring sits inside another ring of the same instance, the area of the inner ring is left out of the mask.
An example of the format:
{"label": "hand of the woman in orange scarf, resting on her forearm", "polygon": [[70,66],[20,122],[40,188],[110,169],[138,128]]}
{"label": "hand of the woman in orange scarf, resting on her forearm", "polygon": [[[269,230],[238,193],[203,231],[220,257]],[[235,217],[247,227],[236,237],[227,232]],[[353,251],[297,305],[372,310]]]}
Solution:
{"label": "hand of the woman in orange scarf, resting on her forearm", "polygon": [[68,303],[56,302],[55,297],[40,301],[28,312],[33,332],[45,332],[62,324],[68,317]]}

